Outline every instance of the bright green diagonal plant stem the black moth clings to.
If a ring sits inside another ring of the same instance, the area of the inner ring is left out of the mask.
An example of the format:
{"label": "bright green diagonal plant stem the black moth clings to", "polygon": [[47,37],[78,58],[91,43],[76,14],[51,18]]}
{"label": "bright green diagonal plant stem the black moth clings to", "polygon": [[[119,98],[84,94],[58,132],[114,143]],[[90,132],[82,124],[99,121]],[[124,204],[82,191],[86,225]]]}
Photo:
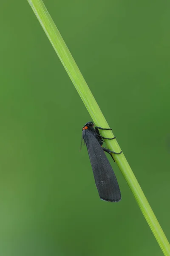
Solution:
{"label": "bright green diagonal plant stem the black moth clings to", "polygon": [[[74,86],[76,87],[79,96],[81,97],[82,101],[84,102],[88,112],[90,113],[92,119],[94,120],[95,124],[102,127],[109,127],[108,123],[105,120],[99,106],[97,105],[94,96],[92,95],[88,85],[85,82],[77,64],[74,61],[70,51],[68,50],[62,36],[60,35],[54,21],[52,20],[51,16],[49,15],[44,3],[42,0],[28,0],[31,8],[33,9],[35,15],[37,16],[42,28],[44,29],[48,39],[50,40],[54,50],[56,51],[60,61],[62,62],[65,70],[68,73],[71,81],[73,82]],[[114,137],[111,131],[102,131],[102,135],[104,137],[110,136]],[[108,147],[116,152],[119,152],[121,149],[116,140],[108,140],[107,141]],[[156,240],[158,241],[164,255],[170,256],[170,244],[167,241],[166,236],[164,235],[159,222],[156,219],[144,193],[139,186],[136,177],[134,176],[124,154],[114,155],[117,165],[121,170],[125,180],[127,181],[131,191],[133,192],[134,197],[147,220]]]}

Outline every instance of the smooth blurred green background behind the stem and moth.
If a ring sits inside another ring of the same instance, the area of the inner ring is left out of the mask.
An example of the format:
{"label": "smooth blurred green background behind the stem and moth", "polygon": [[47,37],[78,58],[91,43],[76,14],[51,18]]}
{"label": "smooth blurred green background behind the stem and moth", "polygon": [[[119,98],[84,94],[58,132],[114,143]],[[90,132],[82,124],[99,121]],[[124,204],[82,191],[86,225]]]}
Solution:
{"label": "smooth blurred green background behind the stem and moth", "polygon": [[[44,3],[170,239],[170,2]],[[0,255],[163,255],[113,162],[122,201],[99,199],[91,117],[26,0],[0,30]]]}

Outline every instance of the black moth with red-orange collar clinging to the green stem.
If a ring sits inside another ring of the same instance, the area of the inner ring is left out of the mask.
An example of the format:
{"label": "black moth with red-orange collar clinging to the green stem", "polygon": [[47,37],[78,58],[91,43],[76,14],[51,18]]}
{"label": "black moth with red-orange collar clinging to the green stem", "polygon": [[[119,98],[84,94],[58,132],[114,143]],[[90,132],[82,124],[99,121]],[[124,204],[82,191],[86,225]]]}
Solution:
{"label": "black moth with red-orange collar clinging to the green stem", "polygon": [[101,128],[97,126],[94,129],[94,123],[87,122],[82,128],[82,138],[88,149],[99,197],[105,201],[119,202],[121,200],[119,185],[105,152],[108,152],[111,155],[111,153],[121,154],[122,151],[116,153],[108,148],[102,148],[104,142],[103,139],[113,140],[115,137],[102,137],[99,133],[99,129],[111,130],[110,128]]}

